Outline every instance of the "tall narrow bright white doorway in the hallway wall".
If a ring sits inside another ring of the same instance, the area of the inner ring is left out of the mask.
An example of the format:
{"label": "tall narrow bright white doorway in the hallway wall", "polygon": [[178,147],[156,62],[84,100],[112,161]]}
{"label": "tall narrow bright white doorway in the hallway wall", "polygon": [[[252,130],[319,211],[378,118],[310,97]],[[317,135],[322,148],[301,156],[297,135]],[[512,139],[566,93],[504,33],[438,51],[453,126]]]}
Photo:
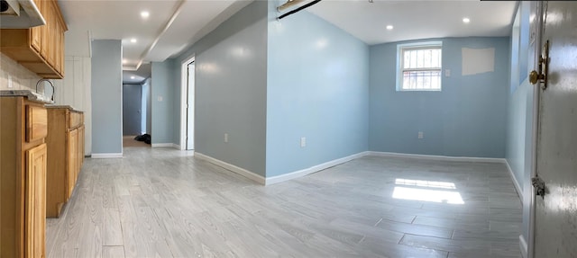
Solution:
{"label": "tall narrow bright white doorway in the hallway wall", "polygon": [[180,149],[195,149],[195,57],[182,62]]}

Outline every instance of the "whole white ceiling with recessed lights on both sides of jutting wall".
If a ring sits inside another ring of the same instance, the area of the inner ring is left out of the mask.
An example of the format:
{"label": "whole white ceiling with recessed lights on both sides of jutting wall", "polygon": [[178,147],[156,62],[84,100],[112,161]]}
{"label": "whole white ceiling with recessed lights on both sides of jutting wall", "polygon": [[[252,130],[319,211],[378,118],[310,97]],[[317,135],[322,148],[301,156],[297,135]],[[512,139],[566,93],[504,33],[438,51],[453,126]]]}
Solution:
{"label": "whole white ceiling with recessed lights on both sides of jutting wall", "polygon": [[[89,39],[122,40],[124,77],[128,78],[125,82],[142,82],[146,74],[136,71],[142,64],[164,61],[187,49],[252,1],[60,0],[69,26],[66,55],[89,56]],[[427,38],[507,36],[516,6],[515,1],[324,0],[307,11],[373,45]],[[142,19],[142,11],[150,13],[148,19]],[[464,24],[463,17],[471,22]],[[394,26],[391,31],[385,29],[389,24]],[[150,68],[143,68],[150,75]]]}

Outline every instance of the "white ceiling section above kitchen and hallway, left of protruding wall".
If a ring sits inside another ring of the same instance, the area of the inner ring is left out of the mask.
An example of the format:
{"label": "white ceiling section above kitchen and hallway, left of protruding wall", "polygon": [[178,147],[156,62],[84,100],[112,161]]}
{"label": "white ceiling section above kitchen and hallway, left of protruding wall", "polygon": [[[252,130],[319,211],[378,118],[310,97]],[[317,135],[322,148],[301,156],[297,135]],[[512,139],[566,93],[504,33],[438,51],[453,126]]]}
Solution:
{"label": "white ceiling section above kitchen and hallway, left of protruding wall", "polygon": [[[60,0],[67,55],[89,56],[89,40],[122,40],[124,69],[164,61],[250,4],[249,0]],[[147,11],[147,19],[141,12]],[[135,39],[136,42],[131,42]]]}

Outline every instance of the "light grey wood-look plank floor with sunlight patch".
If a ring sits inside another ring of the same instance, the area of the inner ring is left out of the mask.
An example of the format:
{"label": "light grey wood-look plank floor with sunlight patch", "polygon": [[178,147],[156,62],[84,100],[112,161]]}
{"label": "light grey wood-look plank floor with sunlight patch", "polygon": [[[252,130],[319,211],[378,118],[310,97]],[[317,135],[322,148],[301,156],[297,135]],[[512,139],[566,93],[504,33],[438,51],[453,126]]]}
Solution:
{"label": "light grey wood-look plank floor with sunlight patch", "polygon": [[47,221],[46,249],[48,257],[520,257],[520,224],[500,164],[365,156],[265,187],[178,150],[128,147],[122,159],[87,158],[63,215]]}

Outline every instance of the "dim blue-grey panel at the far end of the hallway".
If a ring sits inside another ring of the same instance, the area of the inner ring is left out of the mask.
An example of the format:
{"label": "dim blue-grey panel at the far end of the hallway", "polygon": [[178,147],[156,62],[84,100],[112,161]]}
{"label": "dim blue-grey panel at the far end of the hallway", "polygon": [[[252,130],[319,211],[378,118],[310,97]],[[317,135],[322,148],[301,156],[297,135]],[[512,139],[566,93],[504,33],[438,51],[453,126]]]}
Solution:
{"label": "dim blue-grey panel at the far end of the hallway", "polygon": [[142,133],[142,85],[123,85],[123,135]]}

